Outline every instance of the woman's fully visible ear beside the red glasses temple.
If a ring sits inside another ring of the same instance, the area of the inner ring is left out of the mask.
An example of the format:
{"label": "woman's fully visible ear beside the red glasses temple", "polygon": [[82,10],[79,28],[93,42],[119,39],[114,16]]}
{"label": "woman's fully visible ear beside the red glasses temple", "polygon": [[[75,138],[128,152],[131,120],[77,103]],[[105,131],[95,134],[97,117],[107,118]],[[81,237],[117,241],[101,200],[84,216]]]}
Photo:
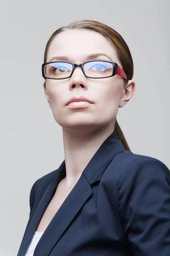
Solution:
{"label": "woman's fully visible ear beside the red glasses temple", "polygon": [[135,93],[135,82],[129,80],[122,91],[122,97],[120,98],[119,108],[122,108]]}

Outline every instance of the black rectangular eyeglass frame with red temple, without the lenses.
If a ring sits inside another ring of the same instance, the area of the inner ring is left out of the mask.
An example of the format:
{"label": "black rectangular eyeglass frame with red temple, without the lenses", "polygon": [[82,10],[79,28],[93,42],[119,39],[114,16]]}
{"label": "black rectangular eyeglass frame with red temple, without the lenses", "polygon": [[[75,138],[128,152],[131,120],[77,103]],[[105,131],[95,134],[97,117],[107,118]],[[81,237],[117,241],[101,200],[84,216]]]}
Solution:
{"label": "black rectangular eyeglass frame with red temple, without the lenses", "polygon": [[[93,61],[101,61],[101,60],[93,60]],[[64,77],[64,78],[51,78],[51,77],[45,76],[45,70],[44,70],[45,65],[51,64],[51,63],[54,63],[54,62],[64,62],[64,63],[72,64],[73,70],[72,70],[70,76]],[[75,63],[68,62],[68,61],[51,61],[51,62],[43,63],[43,64],[42,64],[42,76],[43,76],[44,79],[46,79],[46,78],[47,78],[47,79],[55,79],[55,80],[67,79],[67,78],[69,78],[69,77],[72,76],[72,74],[73,74],[73,72],[74,72],[74,70],[75,70],[76,67],[81,67],[82,72],[83,72],[83,74],[85,75],[85,71],[84,71],[83,65],[84,65],[85,63],[88,63],[88,62],[92,62],[92,61],[85,61],[85,62],[80,63],[80,64],[75,64]],[[116,62],[112,62],[112,61],[102,61],[102,62],[109,62],[109,63],[112,63],[112,64],[113,64],[113,73],[112,73],[111,76],[118,75],[118,76],[121,76],[121,77],[124,78],[124,79],[127,79],[127,76],[126,76],[125,72],[122,70],[122,68],[121,68]],[[85,77],[92,78],[92,79],[102,79],[102,78],[108,78],[108,77],[111,77],[111,76],[105,76],[105,77],[90,77],[90,76],[86,76],[86,75],[85,75]]]}

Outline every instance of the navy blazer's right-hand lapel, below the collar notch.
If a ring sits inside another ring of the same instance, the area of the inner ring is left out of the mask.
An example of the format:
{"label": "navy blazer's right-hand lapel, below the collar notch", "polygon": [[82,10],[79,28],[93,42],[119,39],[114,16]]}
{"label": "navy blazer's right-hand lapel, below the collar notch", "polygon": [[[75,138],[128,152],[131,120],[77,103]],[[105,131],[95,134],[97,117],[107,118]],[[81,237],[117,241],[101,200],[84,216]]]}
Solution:
{"label": "navy blazer's right-hand lapel, below the collar notch", "polygon": [[[48,256],[68,225],[92,194],[92,189],[83,175],[79,178],[62,206],[46,228],[34,256]],[[47,242],[48,241],[48,242]]]}

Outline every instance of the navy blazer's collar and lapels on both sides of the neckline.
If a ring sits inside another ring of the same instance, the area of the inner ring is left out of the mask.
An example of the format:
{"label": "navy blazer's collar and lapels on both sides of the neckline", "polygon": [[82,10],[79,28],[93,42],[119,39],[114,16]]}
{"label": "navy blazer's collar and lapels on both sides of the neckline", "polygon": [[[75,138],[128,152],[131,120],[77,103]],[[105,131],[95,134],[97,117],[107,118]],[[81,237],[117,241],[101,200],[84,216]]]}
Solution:
{"label": "navy blazer's collar and lapels on both sides of the neckline", "polygon": [[[82,175],[80,176],[76,185],[71,190],[70,194],[65,199],[62,206],[59,208],[54,218],[46,228],[34,250],[34,256],[48,256],[50,254],[51,250],[57,244],[68,225],[71,224],[71,221],[73,221],[79,210],[91,196],[91,185],[101,179],[102,173],[105,171],[108,164],[117,154],[122,151],[125,151],[125,149],[115,131],[113,131],[113,133],[96,151],[82,172]],[[66,171],[64,160],[56,172],[54,172],[52,179],[45,183],[44,192],[43,195],[41,195],[40,200],[35,200],[34,207],[32,209],[17,256],[25,255],[34,232],[37,230],[38,224],[45,212],[45,209],[50,203],[59,181],[65,177],[65,175]]]}

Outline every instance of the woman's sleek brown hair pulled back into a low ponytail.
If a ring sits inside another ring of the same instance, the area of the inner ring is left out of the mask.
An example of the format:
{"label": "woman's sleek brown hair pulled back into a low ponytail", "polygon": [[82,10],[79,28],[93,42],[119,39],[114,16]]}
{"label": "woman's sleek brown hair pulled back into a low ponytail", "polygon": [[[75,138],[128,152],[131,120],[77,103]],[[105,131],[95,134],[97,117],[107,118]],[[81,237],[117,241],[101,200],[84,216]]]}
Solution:
{"label": "woman's sleek brown hair pulled back into a low ponytail", "polygon": [[[124,86],[126,85],[128,80],[131,80],[133,78],[133,59],[130,54],[130,50],[126,42],[122,38],[122,36],[119,35],[119,33],[116,32],[114,29],[112,29],[110,26],[107,26],[103,23],[100,23],[94,20],[78,20],[70,23],[68,26],[64,26],[57,29],[51,35],[51,37],[49,38],[46,44],[45,53],[44,53],[44,63],[47,62],[48,49],[53,38],[56,37],[56,35],[59,34],[60,32],[63,32],[67,29],[88,29],[88,30],[92,30],[102,34],[108,41],[111,42],[113,47],[116,49],[117,57],[119,58],[119,61],[122,64],[122,69],[127,76],[127,79],[123,78]],[[45,87],[45,83],[44,83],[44,87]],[[117,119],[116,119],[114,131],[119,137],[119,140],[122,142],[122,145],[124,146],[125,150],[130,151],[129,145],[127,144],[125,136],[117,122]]]}

